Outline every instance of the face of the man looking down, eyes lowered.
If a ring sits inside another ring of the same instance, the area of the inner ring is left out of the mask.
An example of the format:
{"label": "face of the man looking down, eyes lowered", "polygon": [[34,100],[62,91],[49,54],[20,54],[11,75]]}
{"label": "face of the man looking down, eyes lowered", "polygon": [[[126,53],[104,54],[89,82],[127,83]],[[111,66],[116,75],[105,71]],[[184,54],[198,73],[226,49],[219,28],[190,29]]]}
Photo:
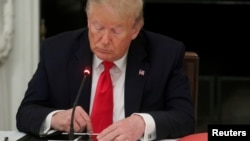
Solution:
{"label": "face of the man looking down, eyes lowered", "polygon": [[140,30],[134,19],[121,18],[112,9],[100,5],[88,13],[88,28],[92,52],[106,61],[120,59]]}

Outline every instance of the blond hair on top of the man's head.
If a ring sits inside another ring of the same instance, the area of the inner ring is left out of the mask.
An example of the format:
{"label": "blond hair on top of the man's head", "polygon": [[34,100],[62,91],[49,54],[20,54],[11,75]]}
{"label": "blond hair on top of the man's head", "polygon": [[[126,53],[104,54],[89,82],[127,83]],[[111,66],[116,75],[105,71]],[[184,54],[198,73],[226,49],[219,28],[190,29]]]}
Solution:
{"label": "blond hair on top of the man's head", "polygon": [[136,23],[144,24],[143,0],[87,0],[87,15],[91,13],[95,4],[111,7],[119,16],[134,18]]}

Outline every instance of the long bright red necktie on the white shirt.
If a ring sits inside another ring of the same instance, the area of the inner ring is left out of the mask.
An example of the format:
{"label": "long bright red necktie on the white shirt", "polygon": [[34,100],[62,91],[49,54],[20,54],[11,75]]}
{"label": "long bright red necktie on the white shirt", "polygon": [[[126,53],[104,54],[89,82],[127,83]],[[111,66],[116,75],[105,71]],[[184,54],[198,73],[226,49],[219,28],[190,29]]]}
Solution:
{"label": "long bright red necktie on the white shirt", "polygon": [[94,133],[100,133],[113,123],[113,85],[109,70],[112,62],[102,62],[104,71],[101,73],[93,103],[91,120]]}

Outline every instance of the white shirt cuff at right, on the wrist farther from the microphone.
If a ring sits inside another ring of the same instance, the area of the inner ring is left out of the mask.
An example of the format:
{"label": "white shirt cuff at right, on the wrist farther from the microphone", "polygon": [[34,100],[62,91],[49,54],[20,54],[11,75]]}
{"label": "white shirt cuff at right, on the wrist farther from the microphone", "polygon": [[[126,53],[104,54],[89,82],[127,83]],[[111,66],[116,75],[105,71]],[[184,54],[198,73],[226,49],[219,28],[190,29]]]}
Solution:
{"label": "white shirt cuff at right, on the wrist farther from the microphone", "polygon": [[146,124],[144,135],[140,140],[151,141],[156,139],[156,128],[153,117],[150,114],[146,113],[134,113],[134,114],[141,116]]}

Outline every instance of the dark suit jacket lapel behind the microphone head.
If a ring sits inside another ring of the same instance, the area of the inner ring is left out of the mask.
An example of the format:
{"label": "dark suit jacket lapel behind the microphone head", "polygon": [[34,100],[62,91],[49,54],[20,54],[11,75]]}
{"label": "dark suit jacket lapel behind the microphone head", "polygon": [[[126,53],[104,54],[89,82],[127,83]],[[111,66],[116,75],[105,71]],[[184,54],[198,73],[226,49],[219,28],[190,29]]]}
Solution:
{"label": "dark suit jacket lapel behind the microphone head", "polygon": [[[89,41],[87,37],[87,31],[83,32],[79,38],[78,43],[75,45],[76,52],[75,56],[72,59],[70,64],[70,102],[73,105],[78,90],[80,88],[81,81],[83,79],[83,71],[86,67],[89,69],[92,68],[92,58],[93,53],[89,47]],[[91,93],[91,80],[92,75],[90,75],[84,84],[84,87],[81,92],[81,96],[79,98],[78,104],[81,105],[86,112],[89,112],[89,104],[90,104],[90,93]]]}

